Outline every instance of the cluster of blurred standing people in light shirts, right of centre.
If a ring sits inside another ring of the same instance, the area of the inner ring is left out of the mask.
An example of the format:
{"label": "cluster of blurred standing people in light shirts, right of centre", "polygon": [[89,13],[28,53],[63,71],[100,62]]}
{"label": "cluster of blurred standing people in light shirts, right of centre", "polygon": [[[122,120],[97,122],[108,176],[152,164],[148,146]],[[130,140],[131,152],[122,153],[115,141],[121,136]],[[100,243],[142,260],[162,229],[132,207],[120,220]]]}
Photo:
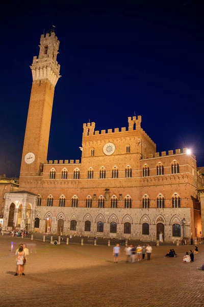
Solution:
{"label": "cluster of blurred standing people in light shirts, right of centre", "polygon": [[[130,262],[131,264],[135,263],[135,260],[140,261],[142,259],[145,259],[145,254],[147,255],[147,260],[150,260],[152,247],[150,244],[147,244],[147,246],[143,245],[141,246],[138,244],[137,247],[135,247],[133,244],[127,245],[124,248],[124,252],[126,255],[126,262]],[[119,244],[116,244],[113,248],[113,256],[114,256],[114,263],[118,263],[118,256],[120,255],[120,246]]]}

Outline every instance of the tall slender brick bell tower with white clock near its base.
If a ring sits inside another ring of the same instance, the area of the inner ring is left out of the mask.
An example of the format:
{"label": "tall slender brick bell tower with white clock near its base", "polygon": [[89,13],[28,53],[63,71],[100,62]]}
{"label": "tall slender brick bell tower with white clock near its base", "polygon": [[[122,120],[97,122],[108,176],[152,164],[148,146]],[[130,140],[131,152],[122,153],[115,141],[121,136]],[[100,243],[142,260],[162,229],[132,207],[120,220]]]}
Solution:
{"label": "tall slender brick bell tower with white clock near its base", "polygon": [[53,30],[40,37],[31,66],[33,84],[22,151],[20,177],[39,176],[47,159],[55,85],[60,78],[59,40]]}

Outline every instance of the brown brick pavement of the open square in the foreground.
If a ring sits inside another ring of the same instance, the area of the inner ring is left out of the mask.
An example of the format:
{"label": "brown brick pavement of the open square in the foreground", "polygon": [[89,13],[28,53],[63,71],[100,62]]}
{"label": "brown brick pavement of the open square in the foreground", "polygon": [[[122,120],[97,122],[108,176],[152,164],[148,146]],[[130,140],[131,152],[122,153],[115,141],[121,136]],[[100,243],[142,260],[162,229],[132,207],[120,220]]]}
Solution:
{"label": "brown brick pavement of the open square in the foreground", "polygon": [[26,276],[18,277],[13,276],[11,241],[11,237],[0,237],[1,307],[204,306],[204,272],[196,270],[204,262],[204,245],[190,264],[183,264],[182,258],[193,246],[174,247],[177,258],[164,258],[169,247],[162,246],[153,247],[151,261],[126,264],[122,254],[119,263],[113,264],[112,247],[37,241]]}

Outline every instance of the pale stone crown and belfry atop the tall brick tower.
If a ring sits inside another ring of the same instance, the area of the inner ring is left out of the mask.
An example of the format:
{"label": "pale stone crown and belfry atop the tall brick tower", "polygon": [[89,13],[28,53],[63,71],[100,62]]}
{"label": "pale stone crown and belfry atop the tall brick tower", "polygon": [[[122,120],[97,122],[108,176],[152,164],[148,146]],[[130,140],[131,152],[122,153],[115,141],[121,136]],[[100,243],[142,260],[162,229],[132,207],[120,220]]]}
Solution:
{"label": "pale stone crown and belfry atop the tall brick tower", "polygon": [[39,57],[33,57],[31,66],[33,81],[48,79],[55,87],[61,77],[60,64],[57,61],[59,45],[60,42],[55,36],[55,32],[50,31],[46,35],[41,35]]}

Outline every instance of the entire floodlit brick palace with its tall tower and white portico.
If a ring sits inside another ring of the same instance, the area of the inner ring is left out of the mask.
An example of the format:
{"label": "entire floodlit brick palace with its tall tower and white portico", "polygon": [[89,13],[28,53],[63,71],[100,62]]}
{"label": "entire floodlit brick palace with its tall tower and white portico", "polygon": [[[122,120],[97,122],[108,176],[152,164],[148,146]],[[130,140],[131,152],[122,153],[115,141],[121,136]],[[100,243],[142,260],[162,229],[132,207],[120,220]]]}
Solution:
{"label": "entire floodlit brick palace with its tall tower and white portico", "polygon": [[6,193],[4,229],[147,240],[162,233],[168,242],[202,236],[203,175],[196,157],[186,148],[160,155],[141,116],[114,130],[84,123],[81,161],[47,161],[58,49],[54,32],[41,35],[19,190]]}

